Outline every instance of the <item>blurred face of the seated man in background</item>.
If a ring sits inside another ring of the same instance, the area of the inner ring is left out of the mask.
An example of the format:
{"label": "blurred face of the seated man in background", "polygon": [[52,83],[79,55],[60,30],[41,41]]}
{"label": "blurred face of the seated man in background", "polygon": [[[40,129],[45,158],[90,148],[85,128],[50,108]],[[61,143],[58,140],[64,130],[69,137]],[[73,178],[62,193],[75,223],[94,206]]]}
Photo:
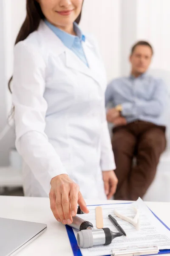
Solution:
{"label": "blurred face of the seated man in background", "polygon": [[132,72],[142,74],[147,71],[152,59],[152,50],[149,46],[138,45],[130,55]]}

